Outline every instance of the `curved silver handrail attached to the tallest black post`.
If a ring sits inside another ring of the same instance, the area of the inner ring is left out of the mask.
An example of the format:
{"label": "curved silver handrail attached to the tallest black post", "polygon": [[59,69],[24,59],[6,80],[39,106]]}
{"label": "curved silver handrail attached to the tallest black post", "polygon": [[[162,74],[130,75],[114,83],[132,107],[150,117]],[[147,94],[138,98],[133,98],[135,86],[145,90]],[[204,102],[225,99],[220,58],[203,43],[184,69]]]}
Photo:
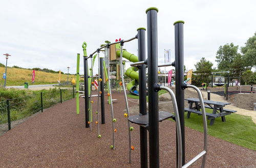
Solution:
{"label": "curved silver handrail attached to the tallest black post", "polygon": [[176,130],[177,130],[177,144],[178,144],[178,163],[177,167],[182,167],[182,141],[181,141],[181,128],[180,128],[180,117],[179,117],[179,110],[178,110],[178,105],[177,101],[175,98],[174,92],[169,89],[168,87],[160,87],[161,90],[165,90],[169,92],[170,96],[172,97],[173,100],[173,106],[174,106],[174,113],[175,113],[175,120],[176,120]]}

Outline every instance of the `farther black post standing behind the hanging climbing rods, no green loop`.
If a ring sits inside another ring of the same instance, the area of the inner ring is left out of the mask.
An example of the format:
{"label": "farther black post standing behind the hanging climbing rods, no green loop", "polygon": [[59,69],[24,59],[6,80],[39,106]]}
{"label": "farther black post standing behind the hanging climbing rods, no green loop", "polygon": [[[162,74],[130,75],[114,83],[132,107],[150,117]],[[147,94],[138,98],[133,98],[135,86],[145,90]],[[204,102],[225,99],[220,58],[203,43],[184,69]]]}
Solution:
{"label": "farther black post standing behind the hanging climbing rods, no green loop", "polygon": [[102,79],[100,81],[100,107],[101,107],[101,124],[105,124],[105,100],[104,100],[104,83],[103,83],[103,58],[99,58],[99,74],[100,74],[100,78]]}

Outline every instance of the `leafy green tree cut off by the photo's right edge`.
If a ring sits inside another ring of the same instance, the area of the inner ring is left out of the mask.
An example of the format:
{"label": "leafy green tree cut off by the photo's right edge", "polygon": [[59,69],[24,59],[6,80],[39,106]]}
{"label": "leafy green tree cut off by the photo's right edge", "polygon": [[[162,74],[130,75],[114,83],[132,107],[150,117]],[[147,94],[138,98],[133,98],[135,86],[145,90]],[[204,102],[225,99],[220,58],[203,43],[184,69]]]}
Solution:
{"label": "leafy green tree cut off by the photo's right edge", "polygon": [[241,47],[241,52],[244,54],[245,66],[247,69],[256,67],[256,32],[254,36],[250,37],[245,43],[244,47]]}

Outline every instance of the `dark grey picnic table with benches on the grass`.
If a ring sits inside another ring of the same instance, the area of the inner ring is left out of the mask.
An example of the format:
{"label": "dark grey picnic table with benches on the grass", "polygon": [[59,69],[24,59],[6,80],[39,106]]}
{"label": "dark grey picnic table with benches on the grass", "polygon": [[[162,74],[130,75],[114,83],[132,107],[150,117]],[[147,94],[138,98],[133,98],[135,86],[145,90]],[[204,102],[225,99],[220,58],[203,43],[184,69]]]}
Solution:
{"label": "dark grey picnic table with benches on the grass", "polygon": [[[187,98],[185,99],[188,101],[189,106],[188,108],[184,108],[187,111],[187,118],[190,118],[190,113],[196,113],[198,115],[202,115],[202,111],[200,111],[201,104],[198,98]],[[228,102],[219,102],[219,101],[211,101],[211,100],[203,100],[204,107],[212,109],[211,113],[206,113],[208,120],[210,120],[210,125],[214,125],[215,118],[221,117],[222,122],[225,122],[225,116],[230,115],[232,113],[236,113],[236,110],[224,109],[225,105],[230,103]],[[193,106],[193,104],[195,105]]]}

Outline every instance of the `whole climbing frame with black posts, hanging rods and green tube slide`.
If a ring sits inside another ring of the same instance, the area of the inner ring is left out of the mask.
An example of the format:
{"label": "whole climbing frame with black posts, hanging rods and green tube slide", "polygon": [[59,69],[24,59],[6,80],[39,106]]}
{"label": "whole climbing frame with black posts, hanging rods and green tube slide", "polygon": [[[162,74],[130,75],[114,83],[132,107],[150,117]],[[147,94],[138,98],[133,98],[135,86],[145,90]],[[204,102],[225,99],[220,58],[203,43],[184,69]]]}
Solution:
{"label": "whole climbing frame with black posts, hanging rods and green tube slide", "polygon": [[[103,91],[103,67],[106,72],[106,68],[104,66],[103,58],[99,58],[100,50],[105,48],[105,57],[108,57],[108,73],[105,73],[105,81],[108,82],[108,96],[110,101],[110,108],[111,108],[111,116],[112,116],[112,129],[113,129],[113,143],[111,145],[111,149],[115,149],[115,125],[114,123],[117,122],[114,118],[114,111],[113,111],[113,100],[112,100],[112,93],[111,93],[111,78],[110,77],[110,60],[113,57],[111,55],[112,46],[115,46],[115,54],[117,57],[120,58],[120,72],[121,72],[121,79],[120,86],[123,87],[124,98],[126,103],[126,113],[124,113],[124,117],[127,117],[127,125],[128,125],[128,132],[129,132],[129,162],[131,163],[131,150],[133,150],[133,146],[131,146],[131,131],[133,131],[133,127],[130,127],[130,122],[138,124],[140,126],[140,161],[141,167],[147,167],[147,131],[149,133],[149,163],[150,167],[159,167],[159,122],[172,118],[176,121],[176,144],[177,144],[177,167],[188,167],[198,159],[203,157],[201,167],[205,166],[206,161],[206,154],[207,154],[207,122],[206,122],[206,115],[205,115],[205,108],[203,103],[203,98],[201,91],[192,85],[187,85],[184,82],[184,49],[183,49],[183,24],[184,21],[176,21],[174,23],[175,26],[175,62],[165,65],[158,65],[158,39],[157,39],[157,8],[148,8],[146,10],[147,15],[147,59],[145,59],[145,28],[139,28],[137,30],[137,35],[129,40],[120,40],[114,43],[106,44],[100,48],[98,48],[95,52],[90,54],[88,57],[86,47],[87,43],[83,43],[83,64],[84,64],[84,92],[77,90],[77,100],[79,100],[79,93],[84,95],[84,102],[85,102],[85,124],[86,128],[92,129],[92,108],[90,106],[91,97],[93,96],[91,93],[92,89],[92,81],[93,80],[93,63],[94,61],[92,58],[93,55],[97,52],[98,60],[99,60],[99,71],[98,71],[98,110],[97,110],[97,118],[99,120],[99,97],[101,97],[101,124],[104,124],[104,97]],[[132,40],[138,39],[138,57],[135,55],[123,50],[123,46],[125,43],[130,42]],[[117,50],[116,50],[117,49]],[[77,54],[77,58],[79,54]],[[88,59],[91,59],[91,68],[90,68],[90,75],[88,75]],[[125,92],[125,83],[123,79],[123,61],[122,58],[125,58],[129,61],[134,62],[131,64],[131,68],[127,69],[125,74],[132,79],[134,79],[130,84],[127,84],[127,89],[134,94],[138,94],[137,91],[137,83],[139,83],[139,114],[130,116],[129,113],[129,105],[127,102],[127,96]],[[79,59],[77,59],[79,62]],[[145,68],[148,68],[148,113],[146,111],[146,74]],[[157,84],[157,77],[158,77],[158,67],[163,66],[175,66],[175,78],[176,78],[176,96],[172,90],[168,87],[160,86]],[[77,66],[77,76],[79,75],[79,64]],[[139,73],[136,72],[139,70]],[[77,78],[78,79],[78,78]],[[89,80],[90,79],[90,80]],[[77,81],[79,83],[79,81]],[[89,87],[90,85],[90,87]],[[186,88],[193,88],[197,91],[200,103],[202,106],[202,117],[203,117],[203,126],[204,126],[204,148],[201,153],[199,153],[195,158],[191,159],[187,163],[185,163],[185,128],[184,128],[184,89]],[[77,88],[79,89],[79,88]],[[172,97],[172,102],[174,106],[174,113],[170,114],[164,111],[159,111],[158,109],[158,91],[165,90],[167,91],[170,96]],[[90,94],[90,96],[89,96]],[[77,108],[79,111],[79,102],[77,103]],[[102,113],[103,111],[103,113]],[[77,113],[79,114],[79,113]],[[98,123],[98,137],[99,137],[99,123]]]}

